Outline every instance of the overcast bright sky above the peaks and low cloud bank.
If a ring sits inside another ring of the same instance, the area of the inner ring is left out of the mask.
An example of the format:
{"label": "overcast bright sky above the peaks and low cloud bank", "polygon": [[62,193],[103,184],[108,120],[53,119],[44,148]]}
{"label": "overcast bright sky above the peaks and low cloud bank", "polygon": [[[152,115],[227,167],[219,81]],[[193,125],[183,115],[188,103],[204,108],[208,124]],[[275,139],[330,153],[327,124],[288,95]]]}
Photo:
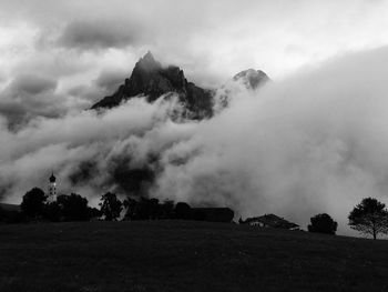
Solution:
{"label": "overcast bright sky above the peaks and low cloud bank", "polygon": [[98,89],[130,74],[147,50],[217,85],[251,67],[278,79],[388,42],[388,2],[378,0],[1,0],[0,8],[1,84],[38,73],[57,92],[89,85],[73,89],[76,98],[93,97],[102,73]]}

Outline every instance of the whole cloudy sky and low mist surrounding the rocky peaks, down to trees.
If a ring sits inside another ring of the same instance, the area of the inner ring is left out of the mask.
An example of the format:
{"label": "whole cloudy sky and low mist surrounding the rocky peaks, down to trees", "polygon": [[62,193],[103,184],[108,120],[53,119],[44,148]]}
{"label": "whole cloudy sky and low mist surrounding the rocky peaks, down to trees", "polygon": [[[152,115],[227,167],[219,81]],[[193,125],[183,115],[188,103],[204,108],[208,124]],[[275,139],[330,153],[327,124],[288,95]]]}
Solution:
{"label": "whole cloudy sky and low mist surrounding the rocky peaks, down to trees", "polygon": [[[0,117],[6,200],[44,189],[54,168],[62,192],[92,200],[105,190],[134,192],[125,182],[144,178],[136,191],[229,205],[244,217],[274,212],[304,225],[328,212],[343,233],[363,197],[387,202],[387,49],[349,54],[388,43],[386,2],[31,0],[1,8],[0,111],[22,121],[10,131]],[[172,121],[174,102],[80,111],[111,93],[149,49],[200,84],[252,67],[275,81],[257,94],[233,92],[228,109],[202,122]],[[37,72],[43,80],[29,80]]]}

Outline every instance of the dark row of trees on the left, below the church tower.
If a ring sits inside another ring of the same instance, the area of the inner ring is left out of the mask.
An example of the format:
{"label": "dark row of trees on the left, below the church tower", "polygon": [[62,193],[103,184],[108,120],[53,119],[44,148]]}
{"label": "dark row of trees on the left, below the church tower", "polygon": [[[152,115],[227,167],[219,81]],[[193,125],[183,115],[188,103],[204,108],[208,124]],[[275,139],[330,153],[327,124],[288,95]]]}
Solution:
{"label": "dark row of trees on the left, below the church tower", "polygon": [[127,198],[121,201],[115,193],[108,192],[101,197],[99,208],[91,208],[88,199],[76,193],[61,194],[55,201],[48,201],[48,195],[39,188],[33,188],[23,195],[20,210],[21,212],[4,212],[0,209],[0,221],[21,223],[93,219],[105,221],[200,219],[185,202],[175,204],[171,200],[160,202],[157,199],[146,198],[139,200]]}

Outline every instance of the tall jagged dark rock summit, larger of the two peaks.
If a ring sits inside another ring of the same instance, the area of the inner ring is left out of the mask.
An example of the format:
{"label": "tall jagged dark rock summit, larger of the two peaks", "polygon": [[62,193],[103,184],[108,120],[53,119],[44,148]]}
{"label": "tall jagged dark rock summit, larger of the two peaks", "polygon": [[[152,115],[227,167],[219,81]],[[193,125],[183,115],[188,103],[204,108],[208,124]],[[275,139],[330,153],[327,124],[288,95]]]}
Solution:
{"label": "tall jagged dark rock summit, larger of the two peaks", "polygon": [[180,102],[186,109],[188,117],[203,119],[212,115],[212,92],[187,82],[178,67],[163,67],[151,52],[136,62],[131,77],[125,79],[112,95],[103,98],[92,109],[113,108],[140,94],[152,102],[170,92],[178,94]]}

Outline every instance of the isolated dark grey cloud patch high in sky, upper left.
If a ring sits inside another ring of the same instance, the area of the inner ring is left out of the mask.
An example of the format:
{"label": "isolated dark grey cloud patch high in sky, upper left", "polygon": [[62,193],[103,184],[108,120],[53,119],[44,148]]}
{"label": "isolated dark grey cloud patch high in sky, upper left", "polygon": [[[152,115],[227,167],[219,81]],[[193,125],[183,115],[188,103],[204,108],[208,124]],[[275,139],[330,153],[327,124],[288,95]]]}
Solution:
{"label": "isolated dark grey cloud patch high in sky, upper left", "polygon": [[141,40],[140,33],[130,22],[75,21],[64,28],[58,42],[82,50],[124,48],[136,44]]}

